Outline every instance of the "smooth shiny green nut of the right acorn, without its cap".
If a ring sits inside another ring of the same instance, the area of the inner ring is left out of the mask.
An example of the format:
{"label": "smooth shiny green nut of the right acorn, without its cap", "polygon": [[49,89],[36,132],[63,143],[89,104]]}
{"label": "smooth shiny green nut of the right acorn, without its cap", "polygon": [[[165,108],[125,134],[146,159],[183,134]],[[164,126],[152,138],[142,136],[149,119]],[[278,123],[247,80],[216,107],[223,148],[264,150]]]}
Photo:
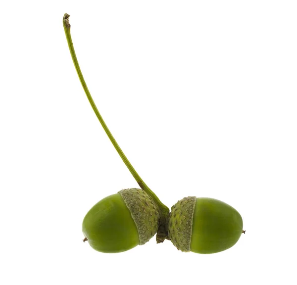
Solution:
{"label": "smooth shiny green nut of the right acorn, without its cap", "polygon": [[243,232],[243,219],[230,205],[212,198],[197,198],[191,251],[215,253],[232,247]]}

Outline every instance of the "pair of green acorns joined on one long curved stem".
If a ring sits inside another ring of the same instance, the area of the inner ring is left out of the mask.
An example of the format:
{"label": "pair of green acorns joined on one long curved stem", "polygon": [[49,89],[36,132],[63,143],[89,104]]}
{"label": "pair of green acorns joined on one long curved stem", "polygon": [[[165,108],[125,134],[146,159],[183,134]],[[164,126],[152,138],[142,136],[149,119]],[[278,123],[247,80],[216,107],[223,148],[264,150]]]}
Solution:
{"label": "pair of green acorns joined on one long curved stem", "polygon": [[121,190],[94,205],[83,220],[84,241],[100,252],[116,253],[148,242],[169,239],[181,251],[215,253],[232,247],[243,231],[239,212],[212,198],[185,197],[169,212],[135,171],[102,119],[88,90],[73,47],[69,15],[63,27],[73,63],[84,91],[108,138],[141,189]]}

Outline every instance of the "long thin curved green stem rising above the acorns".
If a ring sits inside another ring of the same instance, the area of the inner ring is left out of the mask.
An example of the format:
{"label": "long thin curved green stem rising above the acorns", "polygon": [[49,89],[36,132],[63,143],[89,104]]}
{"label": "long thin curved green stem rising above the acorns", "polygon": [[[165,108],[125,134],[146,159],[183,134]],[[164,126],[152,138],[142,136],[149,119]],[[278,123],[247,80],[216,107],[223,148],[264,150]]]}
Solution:
{"label": "long thin curved green stem rising above the acorns", "polygon": [[112,134],[110,133],[109,129],[107,128],[103,118],[101,117],[99,110],[97,109],[97,106],[89,92],[89,89],[87,87],[87,84],[85,82],[85,79],[83,77],[83,74],[81,72],[76,54],[75,54],[75,50],[74,50],[74,46],[72,43],[72,38],[71,38],[71,34],[70,34],[70,24],[69,24],[69,17],[70,15],[68,15],[67,13],[64,14],[63,17],[63,26],[64,26],[64,30],[65,30],[65,35],[66,35],[66,39],[68,42],[68,47],[70,50],[70,54],[76,69],[76,72],[78,74],[79,80],[83,86],[83,89],[88,97],[88,100],[97,116],[97,118],[99,119],[99,122],[101,124],[101,126],[103,127],[106,135],[108,136],[109,140],[112,142],[113,146],[115,147],[117,153],[120,155],[120,157],[122,158],[123,162],[125,163],[125,165],[127,166],[127,168],[129,169],[129,171],[131,172],[132,176],[134,177],[134,179],[136,180],[136,182],[138,183],[138,185],[140,186],[140,188],[142,190],[144,190],[153,200],[154,202],[157,204],[157,206],[159,207],[160,210],[160,225],[164,226],[166,225],[168,219],[169,219],[169,208],[167,206],[165,206],[160,200],[159,198],[156,196],[156,194],[150,190],[148,188],[148,186],[145,184],[145,182],[141,179],[141,177],[139,176],[139,174],[136,172],[136,170],[134,169],[134,167],[132,166],[132,164],[130,163],[130,161],[128,160],[128,158],[126,157],[126,155],[124,154],[124,152],[122,151],[122,149],[120,148],[120,146],[117,144],[116,140],[114,139],[114,137],[112,136]]}

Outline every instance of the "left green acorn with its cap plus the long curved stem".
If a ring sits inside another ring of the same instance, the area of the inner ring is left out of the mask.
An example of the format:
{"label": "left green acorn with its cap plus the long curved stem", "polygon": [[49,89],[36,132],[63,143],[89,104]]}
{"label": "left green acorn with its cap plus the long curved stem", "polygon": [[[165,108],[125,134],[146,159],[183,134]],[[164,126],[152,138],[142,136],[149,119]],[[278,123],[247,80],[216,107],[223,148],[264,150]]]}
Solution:
{"label": "left green acorn with its cap plus the long curved stem", "polygon": [[94,205],[83,220],[83,241],[88,240],[92,248],[106,253],[123,252],[145,244],[156,233],[157,242],[162,242],[167,238],[169,209],[135,171],[101,117],[79,67],[68,14],[64,14],[63,27],[74,66],[91,106],[106,135],[141,188],[121,190]]}

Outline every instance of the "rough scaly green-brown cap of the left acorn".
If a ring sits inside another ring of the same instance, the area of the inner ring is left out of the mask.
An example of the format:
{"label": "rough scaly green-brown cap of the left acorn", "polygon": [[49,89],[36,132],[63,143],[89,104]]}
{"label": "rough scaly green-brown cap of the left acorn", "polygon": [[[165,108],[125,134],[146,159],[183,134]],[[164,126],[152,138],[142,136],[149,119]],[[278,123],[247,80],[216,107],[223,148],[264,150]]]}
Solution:
{"label": "rough scaly green-brown cap of the left acorn", "polygon": [[119,191],[136,224],[140,245],[148,242],[158,230],[159,211],[152,198],[141,189]]}

